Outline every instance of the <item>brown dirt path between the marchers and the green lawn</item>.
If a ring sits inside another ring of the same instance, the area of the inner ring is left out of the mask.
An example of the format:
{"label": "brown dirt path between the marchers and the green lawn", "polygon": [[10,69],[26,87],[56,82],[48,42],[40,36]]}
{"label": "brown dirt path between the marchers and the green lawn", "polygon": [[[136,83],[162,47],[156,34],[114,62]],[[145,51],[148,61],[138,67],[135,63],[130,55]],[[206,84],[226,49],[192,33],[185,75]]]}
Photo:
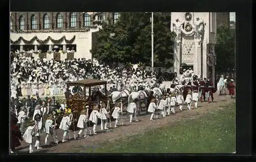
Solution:
{"label": "brown dirt path between the marchers and the green lawn", "polygon": [[[208,102],[202,102],[198,103],[198,109],[193,110],[185,110],[186,106],[183,105],[183,110],[180,112],[179,108],[176,107],[176,114],[172,114],[171,116],[167,116],[163,119],[156,119],[153,121],[150,121],[150,115],[144,115],[138,117],[139,122],[133,122],[130,124],[128,116],[124,117],[123,126],[112,128],[108,131],[100,131],[100,125],[97,126],[96,131],[98,134],[96,136],[90,136],[86,139],[79,139],[74,140],[74,134],[72,131],[70,131],[71,135],[71,141],[66,143],[59,142],[58,145],[50,144],[49,146],[45,146],[45,133],[41,136],[41,150],[35,150],[35,153],[64,153],[64,152],[71,152],[72,148],[79,147],[81,145],[87,145],[87,146],[95,146],[102,142],[113,142],[114,140],[123,139],[127,136],[131,136],[138,133],[143,133],[145,131],[158,128],[158,127],[164,127],[170,124],[173,124],[179,120],[186,120],[186,119],[196,119],[200,116],[208,113],[211,110],[214,109],[223,109],[223,107],[227,104],[230,104],[232,102],[235,102],[235,99],[231,99],[229,95],[223,95],[223,96],[217,96],[215,94],[215,101],[208,103]],[[108,124],[109,126],[109,124]],[[112,126],[114,126],[114,122],[112,122]],[[58,141],[62,140],[62,134],[63,132],[61,130],[57,130],[58,134]],[[49,138],[49,141],[53,141],[52,137]],[[25,142],[22,142],[22,146],[16,149],[17,153],[25,153],[29,152],[28,144]]]}

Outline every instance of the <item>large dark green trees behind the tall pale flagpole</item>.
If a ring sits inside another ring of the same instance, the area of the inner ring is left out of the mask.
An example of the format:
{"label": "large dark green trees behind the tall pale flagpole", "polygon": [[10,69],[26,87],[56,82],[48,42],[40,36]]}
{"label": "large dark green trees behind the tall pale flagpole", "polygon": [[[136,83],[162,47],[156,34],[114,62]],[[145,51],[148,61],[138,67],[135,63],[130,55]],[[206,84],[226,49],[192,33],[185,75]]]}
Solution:
{"label": "large dark green trees behind the tall pale flagpole", "polygon": [[[91,52],[100,62],[151,65],[151,13],[120,13],[118,21],[103,23]],[[109,21],[110,22],[110,21]],[[114,36],[110,36],[114,33]],[[154,13],[154,64],[172,66],[173,40],[170,13]]]}

